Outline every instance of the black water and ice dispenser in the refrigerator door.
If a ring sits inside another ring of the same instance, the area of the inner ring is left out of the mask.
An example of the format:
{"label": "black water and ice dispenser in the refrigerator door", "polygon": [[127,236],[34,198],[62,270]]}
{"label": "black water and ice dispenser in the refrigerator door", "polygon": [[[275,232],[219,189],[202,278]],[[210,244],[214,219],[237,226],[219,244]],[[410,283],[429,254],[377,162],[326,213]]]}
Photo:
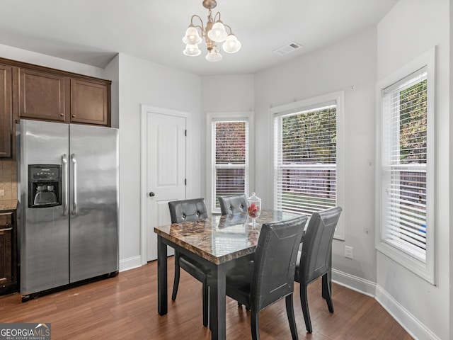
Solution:
{"label": "black water and ice dispenser in the refrigerator door", "polygon": [[62,205],[62,166],[28,165],[28,208]]}

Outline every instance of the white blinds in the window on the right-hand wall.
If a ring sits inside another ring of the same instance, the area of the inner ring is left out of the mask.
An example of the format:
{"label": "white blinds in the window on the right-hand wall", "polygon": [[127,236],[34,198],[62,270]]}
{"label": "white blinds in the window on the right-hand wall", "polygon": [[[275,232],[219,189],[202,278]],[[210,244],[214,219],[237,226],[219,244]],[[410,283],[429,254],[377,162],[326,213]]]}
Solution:
{"label": "white blinds in the window on the right-hand wall", "polygon": [[383,90],[382,183],[385,242],[425,262],[427,72]]}

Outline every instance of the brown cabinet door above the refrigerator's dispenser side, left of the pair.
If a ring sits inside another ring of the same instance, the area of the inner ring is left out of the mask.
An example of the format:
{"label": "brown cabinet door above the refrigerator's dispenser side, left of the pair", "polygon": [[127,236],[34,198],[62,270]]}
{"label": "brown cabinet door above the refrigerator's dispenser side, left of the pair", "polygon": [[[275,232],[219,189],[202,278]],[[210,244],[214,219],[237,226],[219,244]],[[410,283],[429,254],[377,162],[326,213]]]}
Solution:
{"label": "brown cabinet door above the refrigerator's dispenser side, left of the pair", "polygon": [[20,69],[19,117],[65,122],[65,77]]}

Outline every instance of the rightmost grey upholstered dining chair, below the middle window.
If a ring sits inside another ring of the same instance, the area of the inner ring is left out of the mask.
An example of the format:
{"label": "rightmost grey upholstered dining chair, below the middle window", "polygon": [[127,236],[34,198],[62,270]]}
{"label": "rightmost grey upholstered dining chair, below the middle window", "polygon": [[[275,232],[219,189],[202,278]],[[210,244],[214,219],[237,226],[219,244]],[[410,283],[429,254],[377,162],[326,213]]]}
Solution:
{"label": "rightmost grey upholstered dining chair, below the middle window", "polygon": [[322,277],[322,297],[333,313],[332,303],[332,240],[342,209],[340,207],[314,212],[306,227],[302,249],[298,251],[294,280],[300,283],[300,302],[306,331],[312,332],[307,286]]}

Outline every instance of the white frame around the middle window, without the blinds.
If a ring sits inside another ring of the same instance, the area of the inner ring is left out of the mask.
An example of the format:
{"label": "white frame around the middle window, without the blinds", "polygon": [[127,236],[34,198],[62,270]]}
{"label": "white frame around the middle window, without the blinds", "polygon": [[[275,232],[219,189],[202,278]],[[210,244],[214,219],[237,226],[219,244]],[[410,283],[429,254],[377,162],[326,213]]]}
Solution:
{"label": "white frame around the middle window, without the blinds", "polygon": [[[275,117],[277,115],[285,115],[289,113],[296,113],[299,111],[308,111],[314,108],[325,106],[327,103],[336,104],[336,125],[337,125],[337,169],[336,169],[336,204],[343,208],[343,213],[338,220],[335,239],[345,239],[345,92],[338,91],[331,94],[316,96],[314,98],[304,99],[302,101],[295,101],[294,103],[287,103],[281,106],[270,108],[271,119],[273,121],[273,131],[275,131]],[[273,136],[273,150],[275,150],[275,136]],[[274,152],[274,151],[273,151]],[[273,155],[275,162],[276,155]],[[273,166],[273,181],[275,182],[275,166]],[[273,197],[275,197],[275,187],[273,186]],[[275,203],[274,203],[275,205]]]}

